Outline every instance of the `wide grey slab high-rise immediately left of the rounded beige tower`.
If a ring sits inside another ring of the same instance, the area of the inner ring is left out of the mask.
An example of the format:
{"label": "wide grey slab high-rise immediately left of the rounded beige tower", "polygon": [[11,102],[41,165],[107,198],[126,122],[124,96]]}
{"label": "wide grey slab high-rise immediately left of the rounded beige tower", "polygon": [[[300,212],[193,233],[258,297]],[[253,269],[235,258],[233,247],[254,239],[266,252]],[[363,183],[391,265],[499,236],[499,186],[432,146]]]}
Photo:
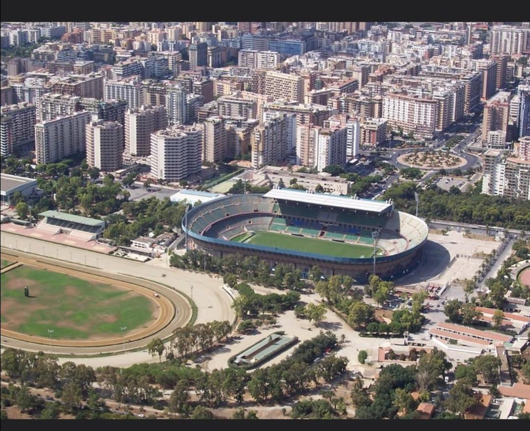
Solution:
{"label": "wide grey slab high-rise immediately left of the rounded beige tower", "polygon": [[85,150],[85,125],[92,113],[75,112],[72,115],[35,124],[37,163],[53,163]]}

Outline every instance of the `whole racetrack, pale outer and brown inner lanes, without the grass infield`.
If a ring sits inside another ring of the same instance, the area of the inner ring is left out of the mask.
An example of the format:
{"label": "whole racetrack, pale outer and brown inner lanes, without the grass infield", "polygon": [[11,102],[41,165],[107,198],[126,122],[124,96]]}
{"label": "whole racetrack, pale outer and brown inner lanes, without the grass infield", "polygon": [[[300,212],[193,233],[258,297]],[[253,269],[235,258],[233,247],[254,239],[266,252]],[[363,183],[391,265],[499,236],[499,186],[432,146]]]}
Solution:
{"label": "whole racetrack, pale outer and brown inner lanes, without the grass infield", "polygon": [[[16,257],[34,261],[47,262],[74,270],[89,272],[94,275],[107,276],[112,281],[119,280],[132,284],[140,284],[146,289],[159,293],[169,299],[175,306],[175,316],[164,329],[157,333],[157,337],[167,339],[176,327],[186,325],[192,316],[189,300],[183,297],[183,292],[193,298],[198,313],[195,323],[207,323],[213,320],[233,321],[234,310],[231,308],[232,299],[222,290],[223,281],[211,275],[192,273],[188,271],[169,268],[155,261],[142,264],[116,256],[102,255],[90,250],[69,247],[61,244],[49,243],[37,238],[23,237],[10,232],[2,232],[2,253],[10,260],[18,260]],[[22,251],[20,251],[22,250]],[[28,253],[29,252],[29,253]],[[96,269],[98,268],[98,269]],[[191,290],[193,285],[194,289]],[[132,340],[125,339],[125,350],[123,350],[123,339],[114,345],[102,347],[69,347],[57,346],[53,340],[53,347],[45,348],[45,345],[25,342],[2,333],[2,348],[14,347],[27,351],[46,351],[56,355],[75,355],[60,361],[72,360],[77,364],[103,366],[129,366],[133,363],[151,362],[154,359],[144,349],[149,342],[149,337]],[[48,339],[49,342],[49,339]],[[135,350],[131,352],[131,350]],[[100,354],[114,354],[103,356]],[[97,357],[87,357],[96,356]],[[84,357],[83,357],[84,356]],[[156,358],[156,360],[158,360]]]}

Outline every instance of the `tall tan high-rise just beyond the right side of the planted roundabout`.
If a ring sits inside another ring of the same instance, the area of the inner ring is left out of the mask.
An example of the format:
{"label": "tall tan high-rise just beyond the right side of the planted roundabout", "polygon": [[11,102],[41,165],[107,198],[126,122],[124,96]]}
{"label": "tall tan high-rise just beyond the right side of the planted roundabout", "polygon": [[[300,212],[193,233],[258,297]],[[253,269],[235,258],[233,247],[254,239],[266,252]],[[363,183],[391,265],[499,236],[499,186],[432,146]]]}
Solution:
{"label": "tall tan high-rise just beyond the right side of the planted roundabout", "polygon": [[505,148],[505,143],[509,140],[507,137],[509,113],[510,92],[499,92],[484,105],[481,138],[483,146]]}

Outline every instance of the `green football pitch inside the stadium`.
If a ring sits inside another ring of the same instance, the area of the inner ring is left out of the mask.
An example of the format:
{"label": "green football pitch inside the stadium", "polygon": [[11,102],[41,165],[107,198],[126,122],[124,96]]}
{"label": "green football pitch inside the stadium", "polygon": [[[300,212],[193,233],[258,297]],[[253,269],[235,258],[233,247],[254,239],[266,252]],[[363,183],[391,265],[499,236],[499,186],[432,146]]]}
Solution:
{"label": "green football pitch inside the stadium", "polygon": [[[246,244],[285,248],[296,252],[317,253],[335,257],[372,257],[374,255],[373,247],[336,243],[325,239],[276,234],[265,230],[255,232],[250,238],[247,234],[242,234],[233,240]],[[381,253],[381,250],[378,250],[379,253]]]}

